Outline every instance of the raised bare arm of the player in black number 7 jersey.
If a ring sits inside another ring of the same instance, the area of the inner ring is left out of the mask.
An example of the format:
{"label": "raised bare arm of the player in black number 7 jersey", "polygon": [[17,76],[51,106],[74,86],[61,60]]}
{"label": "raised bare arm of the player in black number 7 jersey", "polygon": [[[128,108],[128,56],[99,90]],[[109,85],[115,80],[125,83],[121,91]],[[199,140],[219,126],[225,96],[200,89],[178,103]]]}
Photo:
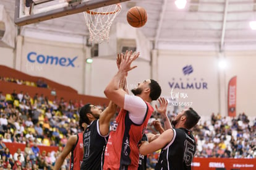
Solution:
{"label": "raised bare arm of the player in black number 7 jersey", "polygon": [[112,101],[109,102],[108,108],[106,108],[103,113],[100,115],[99,126],[100,126],[100,134],[105,136],[108,135],[109,132],[109,122],[111,117],[116,113],[117,105]]}

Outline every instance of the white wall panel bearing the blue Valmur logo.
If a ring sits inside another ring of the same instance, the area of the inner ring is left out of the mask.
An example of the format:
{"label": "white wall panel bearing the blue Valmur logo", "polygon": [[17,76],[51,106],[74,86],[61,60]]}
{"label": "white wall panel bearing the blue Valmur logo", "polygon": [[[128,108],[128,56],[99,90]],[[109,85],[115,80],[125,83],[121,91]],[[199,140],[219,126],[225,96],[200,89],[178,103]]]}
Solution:
{"label": "white wall panel bearing the blue Valmur logo", "polygon": [[192,107],[202,116],[218,113],[218,62],[215,53],[158,51],[158,80],[170,107]]}

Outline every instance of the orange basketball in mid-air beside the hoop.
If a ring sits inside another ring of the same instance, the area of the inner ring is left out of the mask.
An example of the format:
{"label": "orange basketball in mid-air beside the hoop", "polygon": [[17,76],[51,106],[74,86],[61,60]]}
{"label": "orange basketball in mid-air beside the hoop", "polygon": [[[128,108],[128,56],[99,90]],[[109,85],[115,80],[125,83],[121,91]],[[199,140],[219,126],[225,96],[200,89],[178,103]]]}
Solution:
{"label": "orange basketball in mid-air beside the hoop", "polygon": [[148,20],[148,14],[143,7],[132,7],[127,12],[127,21],[132,27],[142,27]]}

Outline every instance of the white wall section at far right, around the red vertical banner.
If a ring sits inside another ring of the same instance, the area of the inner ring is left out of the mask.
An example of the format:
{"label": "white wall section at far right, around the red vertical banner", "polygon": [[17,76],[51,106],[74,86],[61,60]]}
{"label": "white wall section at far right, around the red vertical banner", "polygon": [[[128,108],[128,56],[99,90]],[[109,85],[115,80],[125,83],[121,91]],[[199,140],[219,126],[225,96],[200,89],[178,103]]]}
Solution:
{"label": "white wall section at far right, around the red vertical banner", "polygon": [[256,51],[228,51],[225,53],[226,87],[228,81],[237,75],[237,113],[244,112],[255,117],[256,103]]}

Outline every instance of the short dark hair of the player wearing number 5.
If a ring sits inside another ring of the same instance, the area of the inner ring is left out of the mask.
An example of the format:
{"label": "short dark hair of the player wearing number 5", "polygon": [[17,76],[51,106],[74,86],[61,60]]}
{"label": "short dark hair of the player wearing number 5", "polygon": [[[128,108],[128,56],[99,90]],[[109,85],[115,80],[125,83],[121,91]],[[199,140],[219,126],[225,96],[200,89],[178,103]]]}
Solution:
{"label": "short dark hair of the player wearing number 5", "polygon": [[184,115],[187,117],[187,120],[185,122],[185,126],[187,129],[191,129],[192,127],[194,127],[197,122],[199,121],[199,119],[201,118],[196,111],[194,111],[193,108],[189,108]]}

